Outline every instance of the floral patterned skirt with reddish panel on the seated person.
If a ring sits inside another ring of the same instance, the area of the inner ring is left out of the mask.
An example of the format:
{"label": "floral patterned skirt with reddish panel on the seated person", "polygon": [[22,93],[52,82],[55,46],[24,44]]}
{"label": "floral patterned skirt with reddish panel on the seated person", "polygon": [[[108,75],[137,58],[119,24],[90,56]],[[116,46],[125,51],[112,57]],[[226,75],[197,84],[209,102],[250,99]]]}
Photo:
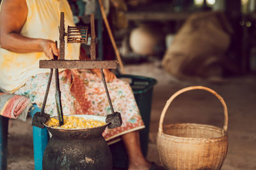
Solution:
{"label": "floral patterned skirt with reddish panel on the seated person", "polygon": [[[101,78],[90,70],[64,70],[59,73],[61,104],[64,115],[99,115],[106,117],[111,113],[108,98]],[[15,94],[29,97],[31,103],[42,107],[49,73],[36,74]],[[115,111],[121,113],[123,124],[115,129],[106,129],[102,134],[106,141],[115,141],[122,134],[143,129],[145,126],[134,99],[129,83],[115,79],[108,84],[109,96]],[[45,105],[45,113],[57,115],[55,103],[55,76]]]}

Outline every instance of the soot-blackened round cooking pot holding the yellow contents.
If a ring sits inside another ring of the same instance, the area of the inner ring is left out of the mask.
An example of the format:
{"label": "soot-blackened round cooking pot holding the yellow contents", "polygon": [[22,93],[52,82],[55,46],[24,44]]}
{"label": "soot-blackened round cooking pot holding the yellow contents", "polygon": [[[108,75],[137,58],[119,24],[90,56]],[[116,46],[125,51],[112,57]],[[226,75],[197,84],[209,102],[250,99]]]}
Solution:
{"label": "soot-blackened round cooking pot holding the yellow contents", "polygon": [[[106,117],[76,115],[105,122]],[[45,125],[51,132],[43,157],[43,169],[112,169],[112,156],[102,136],[106,125],[90,129],[60,129]]]}

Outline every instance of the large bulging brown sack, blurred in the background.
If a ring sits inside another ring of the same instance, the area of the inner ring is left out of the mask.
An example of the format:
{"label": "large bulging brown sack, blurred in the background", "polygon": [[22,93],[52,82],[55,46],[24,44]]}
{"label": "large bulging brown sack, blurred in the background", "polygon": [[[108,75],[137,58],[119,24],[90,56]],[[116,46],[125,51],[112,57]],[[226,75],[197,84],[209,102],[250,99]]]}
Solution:
{"label": "large bulging brown sack, blurred in the background", "polygon": [[220,11],[195,13],[186,20],[163,58],[163,67],[181,78],[218,76],[232,28]]}

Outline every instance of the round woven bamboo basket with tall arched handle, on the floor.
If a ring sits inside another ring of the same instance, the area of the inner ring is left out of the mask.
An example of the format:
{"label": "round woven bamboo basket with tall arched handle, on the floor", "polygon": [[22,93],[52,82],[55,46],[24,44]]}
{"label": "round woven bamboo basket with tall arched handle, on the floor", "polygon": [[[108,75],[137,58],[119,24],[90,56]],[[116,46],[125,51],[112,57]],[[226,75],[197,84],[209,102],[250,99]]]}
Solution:
{"label": "round woven bamboo basket with tall arched handle, on the floor", "polygon": [[[163,126],[166,110],[175,97],[195,89],[211,92],[224,108],[223,128],[203,124],[170,124]],[[228,111],[223,98],[207,87],[194,86],[179,90],[166,102],[161,113],[157,148],[165,169],[220,169],[228,148]]]}

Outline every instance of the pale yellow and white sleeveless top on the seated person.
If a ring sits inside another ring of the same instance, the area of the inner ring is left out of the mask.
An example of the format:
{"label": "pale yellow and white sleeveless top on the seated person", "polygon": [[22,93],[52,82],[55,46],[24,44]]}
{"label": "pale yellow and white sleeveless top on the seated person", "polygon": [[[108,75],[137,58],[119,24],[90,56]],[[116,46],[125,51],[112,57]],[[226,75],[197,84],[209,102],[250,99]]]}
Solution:
{"label": "pale yellow and white sleeveless top on the seated person", "polygon": [[[75,25],[67,0],[26,0],[26,3],[28,17],[20,32],[22,36],[59,41],[58,27],[62,11],[65,13],[65,30],[68,25]],[[67,45],[65,40],[65,59],[78,60],[79,50],[80,44]],[[39,60],[48,60],[44,52],[15,53],[0,47],[0,88],[13,92],[24,85],[29,77],[49,73],[50,69],[39,68]]]}

